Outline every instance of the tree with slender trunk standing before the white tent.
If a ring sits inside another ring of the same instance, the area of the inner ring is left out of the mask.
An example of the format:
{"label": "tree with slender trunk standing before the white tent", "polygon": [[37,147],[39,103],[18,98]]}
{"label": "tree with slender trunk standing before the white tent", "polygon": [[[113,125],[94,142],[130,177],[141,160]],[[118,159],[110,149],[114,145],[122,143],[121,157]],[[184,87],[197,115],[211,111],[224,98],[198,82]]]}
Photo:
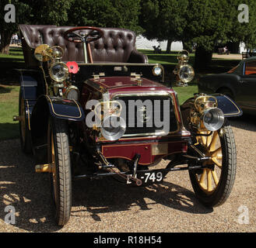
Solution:
{"label": "tree with slender trunk standing before the white tent", "polygon": [[182,40],[187,25],[188,0],[147,0],[142,2],[140,24],[147,39],[168,40],[167,53],[173,41]]}

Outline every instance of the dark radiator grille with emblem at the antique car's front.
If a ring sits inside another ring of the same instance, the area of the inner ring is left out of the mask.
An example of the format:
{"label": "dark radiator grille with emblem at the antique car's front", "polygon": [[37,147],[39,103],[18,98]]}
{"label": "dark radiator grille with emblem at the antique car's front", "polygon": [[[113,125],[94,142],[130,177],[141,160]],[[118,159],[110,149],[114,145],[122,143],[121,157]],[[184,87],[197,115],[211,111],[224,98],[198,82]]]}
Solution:
{"label": "dark radiator grille with emblem at the antique car's front", "polygon": [[[163,130],[167,131],[165,134],[177,131],[177,119],[170,95],[122,95],[115,100],[121,100],[125,105],[125,111],[122,112],[126,122],[124,137],[163,135]],[[139,122],[137,116],[140,116]]]}

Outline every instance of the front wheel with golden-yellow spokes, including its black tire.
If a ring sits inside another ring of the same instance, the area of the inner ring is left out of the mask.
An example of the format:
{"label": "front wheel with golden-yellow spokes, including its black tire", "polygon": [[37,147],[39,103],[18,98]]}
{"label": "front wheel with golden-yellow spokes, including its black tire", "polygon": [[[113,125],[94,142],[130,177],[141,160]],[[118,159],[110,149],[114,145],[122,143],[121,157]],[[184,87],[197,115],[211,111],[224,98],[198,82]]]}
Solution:
{"label": "front wheel with golden-yellow spokes, including its black tire", "polygon": [[237,152],[233,131],[225,121],[223,127],[211,136],[200,136],[209,132],[198,133],[197,143],[202,153],[210,160],[203,165],[212,167],[199,171],[189,171],[195,195],[203,205],[214,207],[226,202],[233,188],[237,167]]}

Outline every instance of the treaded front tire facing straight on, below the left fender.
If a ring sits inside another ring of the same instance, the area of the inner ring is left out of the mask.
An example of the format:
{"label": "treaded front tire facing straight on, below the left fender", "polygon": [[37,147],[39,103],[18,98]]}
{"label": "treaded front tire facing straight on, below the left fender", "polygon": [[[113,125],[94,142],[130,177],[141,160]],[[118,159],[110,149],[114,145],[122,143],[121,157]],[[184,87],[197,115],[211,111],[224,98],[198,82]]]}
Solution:
{"label": "treaded front tire facing straight on, below the left fender", "polygon": [[[54,155],[52,155],[51,143],[54,144]],[[72,208],[72,173],[68,146],[68,125],[65,120],[49,120],[49,163],[52,163],[52,156],[55,160],[55,174],[51,173],[50,175],[55,219],[58,226],[64,226],[70,218]]]}

